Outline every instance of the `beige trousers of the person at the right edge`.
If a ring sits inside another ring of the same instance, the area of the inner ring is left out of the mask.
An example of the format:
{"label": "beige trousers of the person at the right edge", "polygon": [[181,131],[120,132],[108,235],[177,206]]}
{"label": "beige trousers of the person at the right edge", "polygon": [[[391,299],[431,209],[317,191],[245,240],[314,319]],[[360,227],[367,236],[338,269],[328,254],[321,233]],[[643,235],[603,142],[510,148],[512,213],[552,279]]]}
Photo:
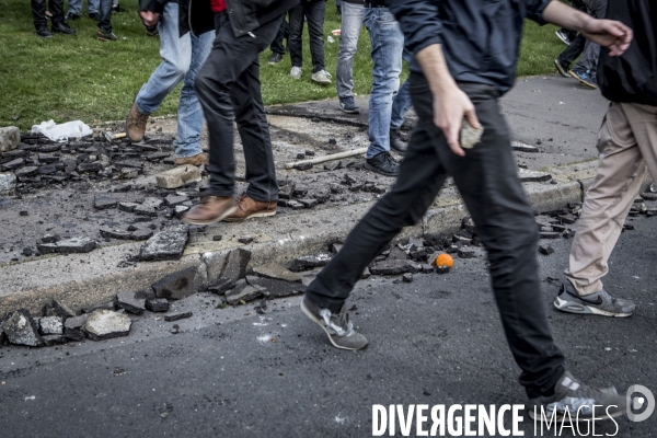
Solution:
{"label": "beige trousers of the person at the right edge", "polygon": [[611,103],[598,134],[598,173],[584,199],[566,278],[579,295],[602,289],[600,278],[643,182],[657,182],[657,106]]}

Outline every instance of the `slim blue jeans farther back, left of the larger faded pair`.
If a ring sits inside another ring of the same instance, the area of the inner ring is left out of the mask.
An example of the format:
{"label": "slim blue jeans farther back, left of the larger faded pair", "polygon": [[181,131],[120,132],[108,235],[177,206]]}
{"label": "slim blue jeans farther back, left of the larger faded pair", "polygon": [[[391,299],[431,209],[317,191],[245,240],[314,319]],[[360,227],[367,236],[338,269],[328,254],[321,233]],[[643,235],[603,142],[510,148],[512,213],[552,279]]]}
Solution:
{"label": "slim blue jeans farther back, left of the larger faded pair", "polygon": [[354,56],[358,48],[358,36],[362,26],[365,5],[345,2],[342,5],[342,24],[339,26],[339,51],[337,54],[337,73],[335,84],[337,96],[354,97]]}

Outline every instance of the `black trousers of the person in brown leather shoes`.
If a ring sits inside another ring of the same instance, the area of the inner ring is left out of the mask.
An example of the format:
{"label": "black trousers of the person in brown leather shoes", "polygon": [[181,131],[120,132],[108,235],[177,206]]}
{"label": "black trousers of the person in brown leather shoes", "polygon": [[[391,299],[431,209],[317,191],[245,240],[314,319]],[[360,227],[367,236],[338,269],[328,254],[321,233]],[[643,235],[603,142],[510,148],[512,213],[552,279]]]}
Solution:
{"label": "black trousers of the person in brown leather shoes", "polygon": [[269,128],[261,93],[258,54],[266,49],[283,15],[237,38],[227,13],[215,15],[212,51],[196,74],[196,95],[208,123],[210,188],[215,196],[234,193],[233,119],[246,159],[246,195],[261,201],[278,198]]}

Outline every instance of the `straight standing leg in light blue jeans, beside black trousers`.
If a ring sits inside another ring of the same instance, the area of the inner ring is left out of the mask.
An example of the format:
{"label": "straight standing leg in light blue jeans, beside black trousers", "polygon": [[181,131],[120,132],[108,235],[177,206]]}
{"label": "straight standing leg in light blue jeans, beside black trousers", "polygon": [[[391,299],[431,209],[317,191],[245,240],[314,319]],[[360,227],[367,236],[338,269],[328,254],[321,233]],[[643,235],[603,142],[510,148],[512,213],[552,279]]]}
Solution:
{"label": "straight standing leg in light blue jeans, beside black trousers", "polygon": [[212,48],[215,32],[206,32],[199,36],[189,33],[188,36],[192,45],[192,59],[189,69],[183,80],[177,111],[177,134],[173,142],[177,158],[188,158],[203,153],[200,131],[203,130],[204,116],[194,91],[194,80]]}

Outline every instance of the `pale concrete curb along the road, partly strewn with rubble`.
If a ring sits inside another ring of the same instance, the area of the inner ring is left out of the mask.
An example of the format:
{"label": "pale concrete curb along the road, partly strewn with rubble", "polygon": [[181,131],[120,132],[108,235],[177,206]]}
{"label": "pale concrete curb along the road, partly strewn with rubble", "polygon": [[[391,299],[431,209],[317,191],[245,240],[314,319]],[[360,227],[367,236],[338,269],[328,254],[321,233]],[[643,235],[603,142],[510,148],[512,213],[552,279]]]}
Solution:
{"label": "pale concrete curb along the road, partly strewn with rubble", "polygon": [[[548,170],[557,184],[526,183],[526,193],[538,211],[563,208],[581,201],[595,176],[596,162],[555,166]],[[646,178],[646,183],[649,178]],[[325,250],[331,238],[344,238],[371,207],[361,203],[333,208],[315,208],[296,215],[277,216],[243,223],[218,224],[219,233],[232,237],[194,241],[184,256],[171,262],[130,264],[140,243],[117,244],[89,254],[41,258],[5,266],[0,272],[0,315],[16,309],[38,314],[44,304],[58,299],[72,309],[110,301],[117,292],[150,287],[158,279],[189,266],[198,268],[196,284],[208,285],[221,276],[228,254],[239,247],[251,251],[250,267],[265,263],[287,264],[300,256]],[[446,187],[424,219],[408,227],[402,237],[456,230],[468,215],[454,187]],[[244,245],[239,237],[251,235]],[[122,263],[123,262],[123,263]],[[38,273],[36,275],[35,273]]]}

